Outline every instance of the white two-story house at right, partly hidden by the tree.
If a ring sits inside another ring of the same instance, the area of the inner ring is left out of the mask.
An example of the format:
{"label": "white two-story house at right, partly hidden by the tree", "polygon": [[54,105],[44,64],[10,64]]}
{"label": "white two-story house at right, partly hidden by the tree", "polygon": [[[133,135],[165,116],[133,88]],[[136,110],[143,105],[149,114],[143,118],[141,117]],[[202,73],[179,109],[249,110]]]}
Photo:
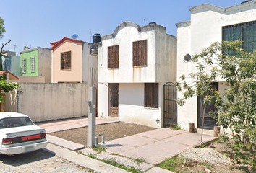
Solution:
{"label": "white two-story house at right, partly hidden by the tree", "polygon": [[[249,52],[256,50],[256,1],[249,1],[236,6],[221,8],[211,4],[202,4],[189,9],[191,21],[176,24],[177,29],[177,80],[182,74],[197,71],[195,63],[189,63],[189,56],[200,53],[213,42],[223,40],[242,40],[243,48]],[[206,69],[208,70],[208,69]],[[221,79],[213,86],[219,91],[227,89],[226,80]],[[192,81],[187,78],[187,84]],[[178,94],[182,98],[182,92]],[[204,128],[213,130],[216,125],[213,117],[208,115],[214,107],[205,112]],[[188,123],[195,123],[195,128],[202,128],[202,97],[193,97],[186,104],[178,107],[178,123],[188,130]],[[210,131],[213,133],[213,131]]]}

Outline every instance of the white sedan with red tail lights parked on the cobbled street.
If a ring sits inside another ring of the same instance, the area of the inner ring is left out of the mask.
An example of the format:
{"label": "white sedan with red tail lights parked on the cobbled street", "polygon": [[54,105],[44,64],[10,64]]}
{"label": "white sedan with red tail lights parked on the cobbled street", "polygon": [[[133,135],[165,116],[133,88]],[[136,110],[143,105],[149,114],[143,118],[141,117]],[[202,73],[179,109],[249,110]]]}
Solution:
{"label": "white sedan with red tail lights parked on the cobbled street", "polygon": [[21,154],[47,146],[46,130],[27,115],[0,112],[0,154]]}

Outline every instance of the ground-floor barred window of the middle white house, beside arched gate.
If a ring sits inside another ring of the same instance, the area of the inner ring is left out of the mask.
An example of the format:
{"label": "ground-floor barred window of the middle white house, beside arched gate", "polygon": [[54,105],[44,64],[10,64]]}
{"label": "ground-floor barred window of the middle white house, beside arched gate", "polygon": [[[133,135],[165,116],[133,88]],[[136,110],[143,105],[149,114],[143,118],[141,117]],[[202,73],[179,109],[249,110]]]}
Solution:
{"label": "ground-floor barred window of the middle white house, beside arched gate", "polygon": [[158,108],[158,83],[145,83],[144,107]]}

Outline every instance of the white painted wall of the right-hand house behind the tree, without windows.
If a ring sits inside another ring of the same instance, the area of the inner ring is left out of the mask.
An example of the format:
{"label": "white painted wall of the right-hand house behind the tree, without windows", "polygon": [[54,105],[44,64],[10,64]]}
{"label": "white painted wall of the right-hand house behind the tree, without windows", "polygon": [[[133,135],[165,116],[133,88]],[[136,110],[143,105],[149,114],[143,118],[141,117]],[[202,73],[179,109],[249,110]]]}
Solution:
{"label": "white painted wall of the right-hand house behind the tree, without windows", "polygon": [[[197,71],[195,63],[184,62],[183,58],[187,53],[193,56],[195,53],[200,53],[203,48],[208,48],[213,42],[221,43],[223,26],[256,20],[255,1],[226,9],[202,4],[191,8],[190,11],[191,21],[177,24],[177,81],[182,74],[187,76]],[[192,82],[189,78],[186,81],[187,84]],[[223,85],[219,84],[219,89],[223,89]],[[178,93],[178,97],[182,98],[182,92]],[[186,130],[188,123],[195,123],[197,127],[196,97],[187,100],[183,107],[178,107],[178,123]]]}

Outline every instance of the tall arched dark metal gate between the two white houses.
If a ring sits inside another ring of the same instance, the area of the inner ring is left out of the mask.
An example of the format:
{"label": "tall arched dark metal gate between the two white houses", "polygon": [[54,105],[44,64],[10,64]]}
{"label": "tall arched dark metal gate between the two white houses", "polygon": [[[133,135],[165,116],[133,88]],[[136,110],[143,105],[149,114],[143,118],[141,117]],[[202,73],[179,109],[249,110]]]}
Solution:
{"label": "tall arched dark metal gate between the two white houses", "polygon": [[177,89],[174,83],[167,82],[163,85],[163,127],[177,124]]}

